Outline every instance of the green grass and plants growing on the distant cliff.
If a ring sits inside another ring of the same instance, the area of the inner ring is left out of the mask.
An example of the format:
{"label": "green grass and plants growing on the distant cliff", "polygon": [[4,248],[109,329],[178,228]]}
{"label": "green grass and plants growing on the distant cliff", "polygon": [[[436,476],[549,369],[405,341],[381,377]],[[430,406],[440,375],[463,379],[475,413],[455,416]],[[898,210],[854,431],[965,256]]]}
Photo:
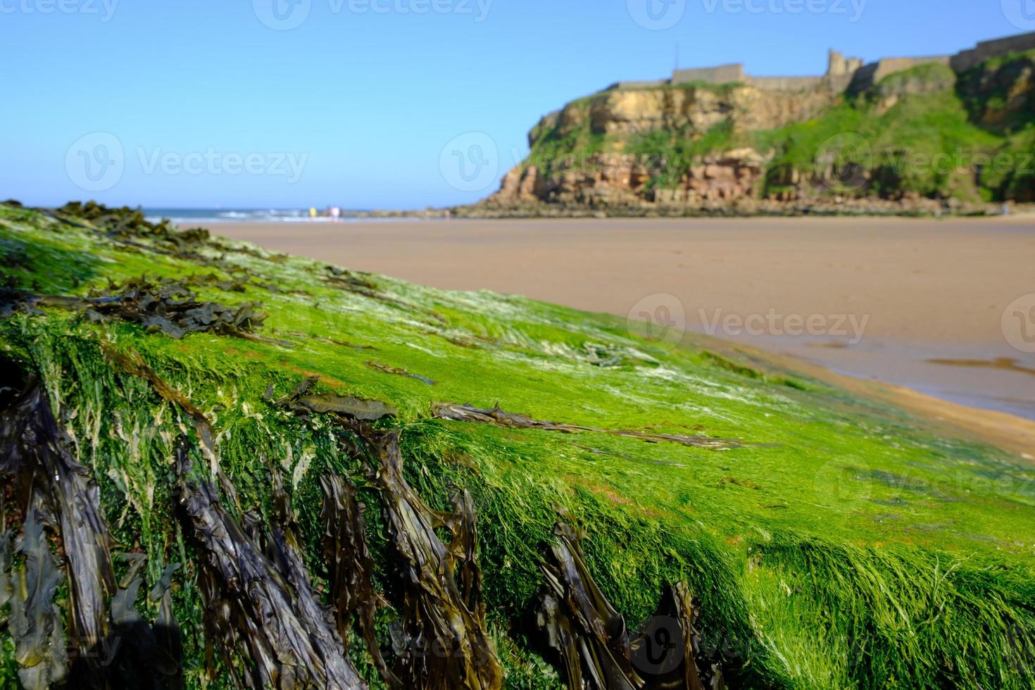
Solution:
{"label": "green grass and plants growing on the distant cliff", "polygon": [[[681,88],[729,95],[738,86]],[[632,154],[650,179],[629,191],[643,196],[686,187],[694,166],[752,149],[763,161],[748,187],[756,198],[1035,200],[1035,51],[988,60],[962,76],[944,64],[916,66],[850,90],[812,119],[774,129],[742,124],[750,118],[738,116],[733,100],[715,107],[728,118],[717,124],[703,127],[676,109],[646,128],[612,129],[609,97],[582,98],[540,123],[525,167],[550,180],[599,168],[598,154]]]}

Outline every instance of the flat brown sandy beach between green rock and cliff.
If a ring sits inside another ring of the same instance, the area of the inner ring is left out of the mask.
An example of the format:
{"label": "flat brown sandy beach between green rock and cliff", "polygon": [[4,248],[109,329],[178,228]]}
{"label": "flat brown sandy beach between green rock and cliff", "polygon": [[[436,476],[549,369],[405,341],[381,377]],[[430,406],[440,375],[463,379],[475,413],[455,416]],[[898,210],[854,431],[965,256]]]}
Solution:
{"label": "flat brown sandy beach between green rock and cliff", "polygon": [[835,372],[1035,420],[1035,355],[1012,347],[1016,334],[1003,329],[1007,306],[1035,293],[1032,217],[209,228],[437,288],[522,294],[623,317],[672,314],[689,330]]}

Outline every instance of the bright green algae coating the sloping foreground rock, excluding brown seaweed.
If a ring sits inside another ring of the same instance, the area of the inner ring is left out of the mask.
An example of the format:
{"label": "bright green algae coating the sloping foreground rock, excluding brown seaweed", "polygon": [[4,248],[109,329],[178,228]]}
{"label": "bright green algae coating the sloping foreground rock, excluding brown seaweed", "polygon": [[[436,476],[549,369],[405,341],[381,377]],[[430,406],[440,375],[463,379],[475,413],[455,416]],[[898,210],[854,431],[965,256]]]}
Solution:
{"label": "bright green algae coating the sloping foreground rock, excluding brown seaweed", "polygon": [[[261,301],[269,313],[264,341],[174,340],[54,309],[0,322],[4,356],[41,377],[100,484],[116,550],[148,557],[147,587],[166,563],[185,564],[173,592],[190,687],[201,684],[205,643],[170,464],[189,420],[105,349],[138,353],[207,414],[242,507],[268,507],[267,471],[283,472],[318,579],[326,573],[319,476],[332,468],[361,487],[383,559],[378,496],[329,428],[274,409],[264,392],[272,384],[279,396],[319,376],[321,390],[394,406],[410,483],[433,506],[446,506],[454,485],[473,496],[509,687],[558,686],[519,622],[543,587],[540,545],[559,519],[587,531],[589,567],[630,628],[652,614],[663,584],[688,581],[732,687],[1035,682],[1035,471],[1009,454],[941,438],[905,413],[698,337],[671,347],[613,317],[351,274],[373,283],[375,298],[327,281],[319,262],[226,240],[187,261],[84,224],[0,206],[9,284],[83,295],[144,273],[236,275],[248,280],[244,293],[198,290],[225,304]],[[348,242],[347,226],[342,233]],[[447,422],[431,418],[434,401],[498,402],[537,419],[743,446],[717,452]],[[0,685],[12,682],[3,636]],[[357,663],[373,677],[360,648]]]}

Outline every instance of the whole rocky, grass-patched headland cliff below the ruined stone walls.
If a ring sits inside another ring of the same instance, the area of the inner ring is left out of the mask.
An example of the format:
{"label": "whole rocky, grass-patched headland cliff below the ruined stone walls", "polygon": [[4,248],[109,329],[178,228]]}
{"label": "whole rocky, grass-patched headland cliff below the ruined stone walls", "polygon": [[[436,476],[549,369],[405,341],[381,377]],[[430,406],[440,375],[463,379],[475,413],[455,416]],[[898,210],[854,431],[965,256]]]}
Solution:
{"label": "whole rocky, grass-patched headland cliff below the ruined stone walls", "polygon": [[[1035,198],[1035,55],[892,74],[861,93],[700,85],[604,91],[552,113],[482,209]],[[989,170],[983,157],[1008,153]]]}

